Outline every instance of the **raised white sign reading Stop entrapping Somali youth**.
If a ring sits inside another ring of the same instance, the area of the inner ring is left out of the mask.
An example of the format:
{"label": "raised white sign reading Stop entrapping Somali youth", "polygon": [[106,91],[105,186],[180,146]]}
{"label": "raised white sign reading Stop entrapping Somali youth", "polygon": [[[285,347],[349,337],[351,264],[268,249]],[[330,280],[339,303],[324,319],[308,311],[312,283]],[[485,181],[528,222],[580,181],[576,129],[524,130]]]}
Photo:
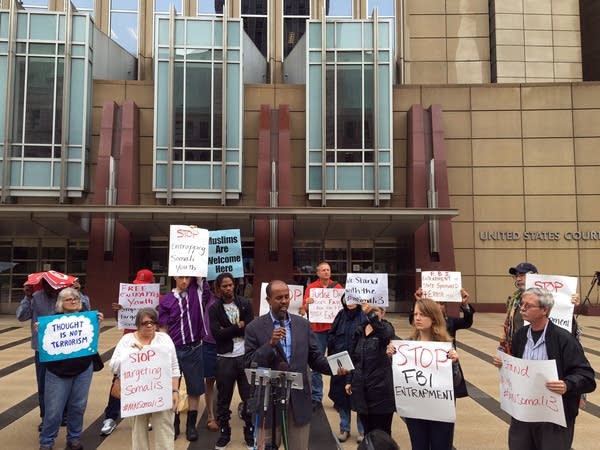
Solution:
{"label": "raised white sign reading Stop entrapping Somali youth", "polygon": [[169,276],[205,277],[208,273],[208,230],[171,225]]}

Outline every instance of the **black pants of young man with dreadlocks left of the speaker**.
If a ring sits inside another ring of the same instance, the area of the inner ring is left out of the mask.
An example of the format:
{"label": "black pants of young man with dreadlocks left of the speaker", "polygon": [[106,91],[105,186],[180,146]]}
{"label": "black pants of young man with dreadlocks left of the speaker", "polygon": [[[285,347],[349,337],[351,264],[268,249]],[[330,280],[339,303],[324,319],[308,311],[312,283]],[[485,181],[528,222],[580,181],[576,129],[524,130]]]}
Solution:
{"label": "black pants of young man with dreadlocks left of the speaker", "polygon": [[[231,398],[233,388],[237,382],[238,392],[243,402],[250,395],[250,384],[244,372],[244,356],[226,358],[217,356],[216,379],[217,379],[217,420],[221,426],[229,423],[231,418]],[[245,409],[245,408],[244,408]],[[246,425],[250,424],[250,417],[244,414]]]}

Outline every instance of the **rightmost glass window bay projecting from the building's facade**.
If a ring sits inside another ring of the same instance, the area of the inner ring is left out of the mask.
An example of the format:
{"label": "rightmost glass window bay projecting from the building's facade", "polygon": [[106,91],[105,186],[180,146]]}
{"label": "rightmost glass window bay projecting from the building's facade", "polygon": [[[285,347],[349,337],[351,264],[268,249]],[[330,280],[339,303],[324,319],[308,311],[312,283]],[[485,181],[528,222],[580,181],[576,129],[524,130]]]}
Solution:
{"label": "rightmost glass window bay projecting from the building's facade", "polygon": [[[323,43],[321,22],[309,23],[307,191],[373,193],[378,179],[379,192],[391,193],[391,23],[379,22],[376,36],[373,22],[340,20],[328,22],[326,27]],[[321,62],[323,51],[325,67]]]}

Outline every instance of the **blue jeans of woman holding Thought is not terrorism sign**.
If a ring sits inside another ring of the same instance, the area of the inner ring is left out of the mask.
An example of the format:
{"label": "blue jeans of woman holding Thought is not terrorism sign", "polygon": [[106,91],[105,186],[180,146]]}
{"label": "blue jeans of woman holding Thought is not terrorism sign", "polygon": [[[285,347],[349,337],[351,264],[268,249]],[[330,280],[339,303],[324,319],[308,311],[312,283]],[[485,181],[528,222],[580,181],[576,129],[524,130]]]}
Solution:
{"label": "blue jeans of woman holding Thought is not terrorism sign", "polygon": [[44,400],[46,412],[40,433],[40,445],[54,446],[62,414],[67,407],[67,442],[79,440],[83,429],[83,414],[92,383],[93,367],[90,366],[75,377],[62,378],[46,371]]}

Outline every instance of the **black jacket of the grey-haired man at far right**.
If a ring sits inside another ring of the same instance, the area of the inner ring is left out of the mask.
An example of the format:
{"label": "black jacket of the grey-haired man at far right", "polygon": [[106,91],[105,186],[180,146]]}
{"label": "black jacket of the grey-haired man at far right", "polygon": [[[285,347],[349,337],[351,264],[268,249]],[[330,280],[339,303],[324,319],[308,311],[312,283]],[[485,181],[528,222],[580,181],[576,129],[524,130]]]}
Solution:
{"label": "black jacket of the grey-haired man at far right", "polygon": [[[523,357],[527,343],[527,331],[531,325],[519,328],[513,337],[513,356]],[[548,359],[556,360],[558,378],[567,384],[567,392],[563,394],[563,407],[567,422],[575,420],[579,413],[579,398],[581,394],[593,392],[596,389],[594,369],[585,357],[581,344],[571,333],[551,321],[546,328],[546,352]]]}

